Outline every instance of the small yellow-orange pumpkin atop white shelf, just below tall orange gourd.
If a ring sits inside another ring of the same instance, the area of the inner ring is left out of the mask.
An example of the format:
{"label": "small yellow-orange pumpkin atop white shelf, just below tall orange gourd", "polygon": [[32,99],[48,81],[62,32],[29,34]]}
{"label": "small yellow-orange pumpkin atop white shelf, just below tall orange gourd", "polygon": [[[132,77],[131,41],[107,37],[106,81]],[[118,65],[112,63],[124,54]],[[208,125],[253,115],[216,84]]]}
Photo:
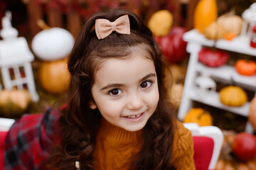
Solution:
{"label": "small yellow-orange pumpkin atop white shelf, just below tall orange gourd", "polygon": [[224,38],[225,29],[219,23],[213,22],[203,30],[203,35],[210,40],[220,40]]}

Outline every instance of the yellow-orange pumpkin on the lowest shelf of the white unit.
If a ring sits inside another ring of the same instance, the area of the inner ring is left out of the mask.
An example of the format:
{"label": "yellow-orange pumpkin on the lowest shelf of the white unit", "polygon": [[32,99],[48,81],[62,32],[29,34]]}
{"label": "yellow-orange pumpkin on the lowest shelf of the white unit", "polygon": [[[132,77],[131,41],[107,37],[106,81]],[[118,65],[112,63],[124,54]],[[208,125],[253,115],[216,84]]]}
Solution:
{"label": "yellow-orange pumpkin on the lowest shelf of the white unit", "polygon": [[247,102],[247,95],[240,86],[226,86],[219,91],[220,102],[225,106],[242,106]]}

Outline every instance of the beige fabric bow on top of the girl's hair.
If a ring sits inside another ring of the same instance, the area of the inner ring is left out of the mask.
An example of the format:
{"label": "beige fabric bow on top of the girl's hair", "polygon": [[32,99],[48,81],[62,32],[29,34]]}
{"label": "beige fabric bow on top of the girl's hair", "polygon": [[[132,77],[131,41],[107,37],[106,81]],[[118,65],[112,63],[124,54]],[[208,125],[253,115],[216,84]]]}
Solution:
{"label": "beige fabric bow on top of the girl's hair", "polygon": [[130,34],[128,15],[120,16],[114,22],[102,18],[95,21],[95,32],[99,40],[106,38],[113,31],[120,34]]}

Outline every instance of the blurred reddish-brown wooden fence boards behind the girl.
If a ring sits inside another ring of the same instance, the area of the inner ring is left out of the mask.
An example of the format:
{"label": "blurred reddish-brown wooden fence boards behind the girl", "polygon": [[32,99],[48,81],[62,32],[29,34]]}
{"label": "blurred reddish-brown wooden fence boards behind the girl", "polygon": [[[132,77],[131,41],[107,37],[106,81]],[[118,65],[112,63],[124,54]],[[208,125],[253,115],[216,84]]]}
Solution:
{"label": "blurred reddish-brown wooden fence boards behind the girl", "polygon": [[[82,0],[72,0],[72,1],[82,1]],[[85,0],[84,0],[85,1]],[[113,0],[112,0],[113,1]],[[186,6],[186,18],[185,25],[188,30],[193,28],[193,11],[196,7],[196,4],[200,0],[169,0],[165,1],[165,6],[169,6],[171,13],[174,16],[174,26],[181,26],[181,12],[182,6]],[[149,6],[148,8],[142,6],[134,6],[132,2],[129,0],[119,0],[120,4],[126,4],[126,7],[138,15],[144,15],[145,22],[147,22],[152,15],[152,13],[163,8],[163,4],[160,1],[154,6]],[[70,31],[70,33],[77,38],[78,33],[82,27],[82,23],[84,18],[81,17],[78,11],[70,11],[68,13],[63,14],[62,11],[58,10],[58,8],[50,8],[49,4],[45,3],[43,6],[38,4],[37,0],[26,0],[26,8],[28,12],[28,24],[31,36],[33,37],[41,31],[41,28],[37,25],[37,21],[39,19],[43,19],[46,24],[50,27],[60,27],[66,28]],[[68,5],[68,4],[67,4]],[[184,22],[183,22],[184,23]]]}

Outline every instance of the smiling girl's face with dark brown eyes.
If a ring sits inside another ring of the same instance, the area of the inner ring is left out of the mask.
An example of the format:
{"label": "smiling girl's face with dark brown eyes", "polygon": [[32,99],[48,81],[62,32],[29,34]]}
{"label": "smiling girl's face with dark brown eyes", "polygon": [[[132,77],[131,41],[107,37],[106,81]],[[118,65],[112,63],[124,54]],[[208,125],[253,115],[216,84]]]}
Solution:
{"label": "smiling girl's face with dark brown eyes", "polygon": [[110,58],[95,74],[90,108],[98,108],[109,123],[128,131],[144,128],[159,101],[154,62],[134,52]]}

